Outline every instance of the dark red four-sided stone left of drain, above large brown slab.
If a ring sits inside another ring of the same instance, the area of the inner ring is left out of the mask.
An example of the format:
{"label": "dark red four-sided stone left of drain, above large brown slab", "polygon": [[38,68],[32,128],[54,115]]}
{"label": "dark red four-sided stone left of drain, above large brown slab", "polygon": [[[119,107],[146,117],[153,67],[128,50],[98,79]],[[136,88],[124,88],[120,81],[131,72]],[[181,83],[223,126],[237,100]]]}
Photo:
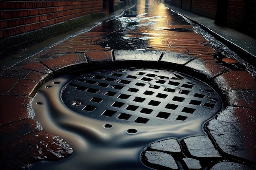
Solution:
{"label": "dark red four-sided stone left of drain, above large brown slab", "polygon": [[38,83],[27,79],[19,79],[13,88],[7,93],[8,95],[30,96],[34,95],[34,89]]}

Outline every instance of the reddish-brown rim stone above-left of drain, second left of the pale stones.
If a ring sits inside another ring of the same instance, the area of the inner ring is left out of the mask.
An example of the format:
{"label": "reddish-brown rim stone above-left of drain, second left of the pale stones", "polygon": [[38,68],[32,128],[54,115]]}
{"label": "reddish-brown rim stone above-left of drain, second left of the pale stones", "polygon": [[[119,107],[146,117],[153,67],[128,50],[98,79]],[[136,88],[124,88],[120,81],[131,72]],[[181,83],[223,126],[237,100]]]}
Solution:
{"label": "reddish-brown rim stone above-left of drain, second left of the pale stones", "polygon": [[42,63],[49,67],[52,71],[58,71],[68,66],[76,66],[77,64],[87,63],[87,60],[85,58],[85,55],[74,53],[66,54],[61,57],[56,57],[51,60],[43,61]]}

